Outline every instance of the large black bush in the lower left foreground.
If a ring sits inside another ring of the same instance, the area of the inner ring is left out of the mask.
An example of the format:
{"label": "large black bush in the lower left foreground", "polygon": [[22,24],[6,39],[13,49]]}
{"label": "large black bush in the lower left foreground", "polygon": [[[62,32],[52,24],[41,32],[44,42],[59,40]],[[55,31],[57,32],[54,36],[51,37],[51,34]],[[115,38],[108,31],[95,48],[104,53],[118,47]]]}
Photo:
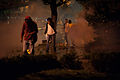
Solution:
{"label": "large black bush in the lower left foreground", "polygon": [[28,73],[61,67],[54,55],[14,56],[0,59],[0,65],[0,73],[6,78],[16,78]]}

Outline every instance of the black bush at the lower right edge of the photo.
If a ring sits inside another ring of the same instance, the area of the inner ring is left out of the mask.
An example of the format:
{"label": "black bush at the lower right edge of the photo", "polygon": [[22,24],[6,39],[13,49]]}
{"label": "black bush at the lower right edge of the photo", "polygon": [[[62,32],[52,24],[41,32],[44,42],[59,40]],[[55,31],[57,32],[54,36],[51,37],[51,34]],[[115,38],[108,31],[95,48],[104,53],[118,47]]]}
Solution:
{"label": "black bush at the lower right edge of the photo", "polygon": [[120,53],[92,53],[90,59],[99,72],[120,73]]}

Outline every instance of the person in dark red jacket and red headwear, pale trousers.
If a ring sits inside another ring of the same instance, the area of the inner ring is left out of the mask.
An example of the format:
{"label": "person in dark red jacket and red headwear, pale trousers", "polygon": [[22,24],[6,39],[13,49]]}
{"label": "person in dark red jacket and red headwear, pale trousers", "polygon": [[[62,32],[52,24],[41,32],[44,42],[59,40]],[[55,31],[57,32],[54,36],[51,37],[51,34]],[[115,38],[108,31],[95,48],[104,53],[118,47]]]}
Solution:
{"label": "person in dark red jacket and red headwear, pale trousers", "polygon": [[34,44],[37,41],[37,33],[37,24],[30,16],[26,16],[21,32],[21,42],[23,42],[23,52],[25,55],[34,55]]}

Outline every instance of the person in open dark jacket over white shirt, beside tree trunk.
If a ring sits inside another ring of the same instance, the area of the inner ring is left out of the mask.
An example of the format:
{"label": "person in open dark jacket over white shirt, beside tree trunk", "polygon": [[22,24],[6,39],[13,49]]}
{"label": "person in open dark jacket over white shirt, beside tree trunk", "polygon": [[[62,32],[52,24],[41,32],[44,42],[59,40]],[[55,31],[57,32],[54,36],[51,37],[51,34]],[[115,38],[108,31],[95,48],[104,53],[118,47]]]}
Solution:
{"label": "person in open dark jacket over white shirt, beside tree trunk", "polygon": [[51,18],[47,19],[47,24],[46,24],[46,29],[45,29],[44,34],[46,34],[46,36],[47,36],[46,52],[47,53],[49,52],[49,43],[51,40],[53,41],[54,52],[56,52],[56,47],[55,47],[55,43],[54,43],[55,38],[53,38],[56,34],[56,30],[54,29],[54,23],[52,22]]}

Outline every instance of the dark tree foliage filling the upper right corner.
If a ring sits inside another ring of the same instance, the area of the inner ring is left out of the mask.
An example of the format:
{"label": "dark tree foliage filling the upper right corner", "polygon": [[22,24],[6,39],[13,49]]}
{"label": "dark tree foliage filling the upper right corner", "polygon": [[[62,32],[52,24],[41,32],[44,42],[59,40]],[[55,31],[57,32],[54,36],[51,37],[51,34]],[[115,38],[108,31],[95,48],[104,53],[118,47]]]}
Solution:
{"label": "dark tree foliage filling the upper right corner", "polygon": [[87,16],[89,21],[101,22],[101,21],[115,21],[119,20],[119,0],[76,0],[82,4],[87,10],[90,7],[94,9],[94,16]]}

